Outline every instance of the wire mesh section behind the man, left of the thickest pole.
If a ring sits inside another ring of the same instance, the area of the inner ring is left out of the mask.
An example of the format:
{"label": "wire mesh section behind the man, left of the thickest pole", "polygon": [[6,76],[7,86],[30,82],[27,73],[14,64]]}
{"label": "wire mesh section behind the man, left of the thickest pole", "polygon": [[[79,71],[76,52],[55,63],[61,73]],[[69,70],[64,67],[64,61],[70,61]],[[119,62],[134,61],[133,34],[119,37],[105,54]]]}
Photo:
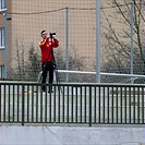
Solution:
{"label": "wire mesh section behind the man, left of the thickest pole", "polygon": [[8,7],[8,16],[12,17],[7,22],[8,78],[37,80],[41,69],[38,44],[43,29],[55,32],[60,41],[59,48],[55,49],[58,69],[65,69],[68,63],[69,70],[93,70],[95,1],[13,0]]}

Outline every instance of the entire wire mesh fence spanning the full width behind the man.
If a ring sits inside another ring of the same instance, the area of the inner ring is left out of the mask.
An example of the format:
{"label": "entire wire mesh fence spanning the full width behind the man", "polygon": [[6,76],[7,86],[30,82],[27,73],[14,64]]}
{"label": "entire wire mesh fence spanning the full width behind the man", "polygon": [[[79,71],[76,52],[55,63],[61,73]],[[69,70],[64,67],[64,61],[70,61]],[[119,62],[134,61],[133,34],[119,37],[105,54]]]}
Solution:
{"label": "entire wire mesh fence spanning the full width behind the man", "polygon": [[[7,48],[0,49],[1,78],[37,81],[41,71],[38,44],[43,29],[56,33],[60,41],[59,48],[55,49],[59,70],[96,71],[96,0],[0,0],[0,3],[1,10],[3,5],[7,8],[7,12],[0,13],[3,22],[0,22],[0,28],[5,31],[0,37],[4,37]],[[144,0],[100,0],[100,71],[130,74],[133,63],[133,73],[144,75]],[[65,82],[65,75],[60,73],[60,80]],[[101,82],[121,83],[122,77],[101,76]],[[69,74],[69,81],[96,82],[96,75]]]}

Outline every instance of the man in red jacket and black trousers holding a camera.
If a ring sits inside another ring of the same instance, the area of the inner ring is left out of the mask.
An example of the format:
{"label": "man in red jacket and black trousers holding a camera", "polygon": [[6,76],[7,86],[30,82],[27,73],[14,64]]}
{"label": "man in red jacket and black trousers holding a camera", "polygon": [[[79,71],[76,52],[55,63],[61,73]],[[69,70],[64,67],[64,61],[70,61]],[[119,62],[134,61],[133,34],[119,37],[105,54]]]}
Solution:
{"label": "man in red jacket and black trousers holding a camera", "polygon": [[[41,83],[46,83],[47,72],[49,71],[49,84],[52,84],[53,81],[53,69],[55,69],[55,58],[53,58],[53,48],[59,46],[59,41],[46,31],[40,33],[43,40],[39,43],[41,50],[41,69],[43,69],[43,80]],[[43,86],[43,90],[46,92],[46,87]],[[51,87],[49,87],[48,93],[52,93]]]}

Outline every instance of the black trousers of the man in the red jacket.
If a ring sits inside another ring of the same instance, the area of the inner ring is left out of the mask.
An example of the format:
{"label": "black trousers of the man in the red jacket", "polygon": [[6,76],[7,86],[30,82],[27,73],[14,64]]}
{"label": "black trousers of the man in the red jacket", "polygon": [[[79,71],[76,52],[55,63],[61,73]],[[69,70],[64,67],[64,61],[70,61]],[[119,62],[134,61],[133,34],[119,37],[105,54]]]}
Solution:
{"label": "black trousers of the man in the red jacket", "polygon": [[[41,63],[41,69],[43,69],[43,80],[41,80],[41,84],[46,83],[46,78],[47,78],[47,73],[49,71],[49,84],[52,84],[53,82],[53,62],[49,61],[49,62],[43,62]],[[50,90],[51,87],[49,87]],[[46,87],[43,86],[43,90],[46,90]]]}

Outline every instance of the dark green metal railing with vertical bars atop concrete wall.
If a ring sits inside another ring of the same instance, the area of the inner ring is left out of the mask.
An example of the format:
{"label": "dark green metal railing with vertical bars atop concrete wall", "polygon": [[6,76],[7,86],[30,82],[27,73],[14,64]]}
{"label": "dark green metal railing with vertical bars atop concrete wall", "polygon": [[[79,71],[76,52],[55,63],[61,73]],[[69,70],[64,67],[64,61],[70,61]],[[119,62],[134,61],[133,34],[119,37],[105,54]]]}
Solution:
{"label": "dark green metal railing with vertical bars atop concrete wall", "polygon": [[[49,85],[46,85],[49,87]],[[145,85],[0,83],[1,123],[144,124]]]}

